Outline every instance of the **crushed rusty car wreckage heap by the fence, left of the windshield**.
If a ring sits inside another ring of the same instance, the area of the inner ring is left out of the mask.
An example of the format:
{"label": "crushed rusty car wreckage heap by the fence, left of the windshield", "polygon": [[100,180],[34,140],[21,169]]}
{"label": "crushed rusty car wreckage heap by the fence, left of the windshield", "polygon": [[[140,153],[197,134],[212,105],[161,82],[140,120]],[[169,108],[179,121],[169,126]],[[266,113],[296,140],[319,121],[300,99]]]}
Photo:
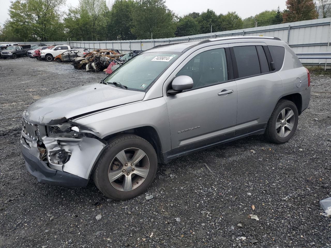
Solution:
{"label": "crushed rusty car wreckage heap by the fence, left of the windshield", "polygon": [[77,57],[72,60],[73,67],[76,69],[85,69],[86,71],[102,71],[122,55],[118,50],[102,49],[94,50],[84,57]]}

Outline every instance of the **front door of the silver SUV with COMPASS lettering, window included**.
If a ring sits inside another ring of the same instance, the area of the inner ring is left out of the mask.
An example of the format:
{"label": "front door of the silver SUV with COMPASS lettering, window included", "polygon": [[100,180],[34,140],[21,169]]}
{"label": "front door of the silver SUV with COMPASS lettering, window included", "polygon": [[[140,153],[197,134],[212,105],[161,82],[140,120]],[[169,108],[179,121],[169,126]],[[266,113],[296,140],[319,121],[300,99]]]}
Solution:
{"label": "front door of the silver SUV with COMPASS lettering, window included", "polygon": [[[237,117],[237,86],[233,80],[228,45],[199,49],[169,76],[193,79],[193,88],[165,95],[171,153],[204,147],[234,136]],[[171,88],[171,86],[170,86]],[[166,90],[165,90],[166,91]]]}

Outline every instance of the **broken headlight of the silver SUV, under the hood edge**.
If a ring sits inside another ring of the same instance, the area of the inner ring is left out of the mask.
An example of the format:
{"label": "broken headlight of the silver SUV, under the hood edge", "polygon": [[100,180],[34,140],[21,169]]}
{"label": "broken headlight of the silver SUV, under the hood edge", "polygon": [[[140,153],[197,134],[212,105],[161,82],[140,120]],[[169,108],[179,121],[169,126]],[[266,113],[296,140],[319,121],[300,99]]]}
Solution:
{"label": "broken headlight of the silver SUV, under the hood edge", "polygon": [[60,125],[47,126],[48,137],[52,138],[81,138],[83,134],[79,131],[77,126],[72,126],[69,123],[63,123]]}

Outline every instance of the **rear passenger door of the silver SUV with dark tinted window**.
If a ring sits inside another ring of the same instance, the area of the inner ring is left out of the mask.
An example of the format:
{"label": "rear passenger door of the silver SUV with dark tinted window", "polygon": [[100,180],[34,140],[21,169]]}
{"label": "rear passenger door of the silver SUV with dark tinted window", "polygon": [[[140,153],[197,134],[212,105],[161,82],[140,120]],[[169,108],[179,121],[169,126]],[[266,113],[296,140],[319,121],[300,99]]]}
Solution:
{"label": "rear passenger door of the silver SUV with dark tinted window", "polygon": [[266,127],[283,94],[280,76],[271,71],[271,56],[264,42],[229,44],[238,88],[236,136]]}

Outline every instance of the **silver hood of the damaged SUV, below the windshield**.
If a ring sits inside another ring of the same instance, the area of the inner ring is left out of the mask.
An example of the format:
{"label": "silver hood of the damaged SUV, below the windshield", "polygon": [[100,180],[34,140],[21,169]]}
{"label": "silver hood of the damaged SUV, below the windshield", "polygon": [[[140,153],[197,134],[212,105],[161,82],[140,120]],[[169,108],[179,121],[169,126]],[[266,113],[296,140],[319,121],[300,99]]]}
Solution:
{"label": "silver hood of the damaged SUV, below the windshield", "polygon": [[77,115],[141,101],[144,96],[145,93],[141,91],[91,83],[55,93],[32,103],[27,108],[24,118],[40,125],[59,124]]}

